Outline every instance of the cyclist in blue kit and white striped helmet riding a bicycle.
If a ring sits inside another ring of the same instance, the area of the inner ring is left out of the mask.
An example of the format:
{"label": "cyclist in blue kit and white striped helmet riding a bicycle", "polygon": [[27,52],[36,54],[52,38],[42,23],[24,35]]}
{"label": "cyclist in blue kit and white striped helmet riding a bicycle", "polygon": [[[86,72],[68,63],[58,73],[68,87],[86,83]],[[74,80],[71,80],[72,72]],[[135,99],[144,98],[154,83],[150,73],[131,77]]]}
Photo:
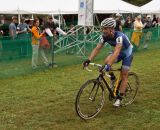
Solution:
{"label": "cyclist in blue kit and white striped helmet riding a bicycle", "polygon": [[105,43],[108,43],[109,45],[114,47],[112,54],[108,55],[104,61],[105,65],[103,67],[103,70],[111,70],[111,65],[113,63],[122,60],[122,82],[119,88],[119,94],[117,95],[116,101],[113,104],[113,106],[119,107],[121,105],[121,100],[123,98],[123,95],[125,94],[125,90],[127,87],[128,71],[130,69],[133,59],[133,46],[131,45],[128,37],[124,33],[114,30],[115,26],[116,21],[113,18],[106,18],[101,22],[102,35],[100,36],[100,42],[99,44],[97,44],[95,49],[93,49],[89,58],[83,62],[83,67],[87,67],[89,65],[89,63],[100,52],[101,48],[104,46]]}

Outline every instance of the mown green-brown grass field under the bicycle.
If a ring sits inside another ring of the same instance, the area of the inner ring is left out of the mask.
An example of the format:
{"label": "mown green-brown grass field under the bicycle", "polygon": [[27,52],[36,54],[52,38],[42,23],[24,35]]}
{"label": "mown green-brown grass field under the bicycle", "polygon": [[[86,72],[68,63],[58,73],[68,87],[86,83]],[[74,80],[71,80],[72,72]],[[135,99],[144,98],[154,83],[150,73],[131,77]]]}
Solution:
{"label": "mown green-brown grass field under the bicycle", "polygon": [[133,104],[113,108],[106,93],[102,111],[88,121],[76,115],[74,103],[82,83],[96,71],[83,71],[78,64],[1,79],[0,130],[159,130],[159,52],[157,43],[135,54],[131,70],[140,78],[140,89]]}

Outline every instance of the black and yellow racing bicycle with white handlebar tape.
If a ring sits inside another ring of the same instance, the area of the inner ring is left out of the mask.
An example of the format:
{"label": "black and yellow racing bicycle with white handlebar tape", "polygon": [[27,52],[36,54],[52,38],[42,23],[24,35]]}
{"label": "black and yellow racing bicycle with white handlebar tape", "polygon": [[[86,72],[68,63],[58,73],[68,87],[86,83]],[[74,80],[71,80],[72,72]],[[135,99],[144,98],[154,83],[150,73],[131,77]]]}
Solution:
{"label": "black and yellow racing bicycle with white handlebar tape", "polygon": [[[100,64],[90,63],[90,65],[98,67],[98,70],[102,68]],[[92,71],[88,68],[87,70]],[[118,77],[115,76],[115,71],[119,72]],[[121,69],[112,69],[109,72],[99,71],[99,76],[96,79],[88,80],[80,87],[75,102],[76,113],[80,118],[91,119],[101,111],[105,101],[105,89],[109,92],[110,101],[116,98],[121,84],[120,71]],[[111,82],[111,85],[109,85],[107,79],[109,81],[114,79],[114,82]],[[127,89],[121,106],[127,106],[134,101],[138,88],[139,78],[137,74],[129,72]]]}

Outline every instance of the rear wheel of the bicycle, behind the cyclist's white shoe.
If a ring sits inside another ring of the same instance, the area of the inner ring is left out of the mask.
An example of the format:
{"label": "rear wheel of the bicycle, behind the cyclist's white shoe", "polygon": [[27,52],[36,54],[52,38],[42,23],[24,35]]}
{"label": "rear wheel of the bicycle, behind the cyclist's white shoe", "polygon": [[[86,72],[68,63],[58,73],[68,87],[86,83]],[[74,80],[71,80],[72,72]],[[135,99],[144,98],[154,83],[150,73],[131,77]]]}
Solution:
{"label": "rear wheel of the bicycle, behind the cyclist's white shoe", "polygon": [[137,74],[134,72],[129,72],[128,84],[125,95],[122,100],[122,106],[127,106],[134,101],[138,92],[138,88],[139,88],[139,78]]}

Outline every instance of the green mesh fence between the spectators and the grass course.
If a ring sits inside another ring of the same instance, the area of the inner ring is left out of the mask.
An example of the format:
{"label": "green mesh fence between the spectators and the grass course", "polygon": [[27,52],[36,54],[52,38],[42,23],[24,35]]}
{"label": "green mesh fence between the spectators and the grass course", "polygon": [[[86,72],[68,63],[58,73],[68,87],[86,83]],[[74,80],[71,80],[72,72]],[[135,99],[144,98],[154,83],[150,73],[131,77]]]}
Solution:
{"label": "green mesh fence between the spectators and the grass course", "polygon": [[[133,30],[123,29],[123,31],[131,38]],[[144,30],[144,34],[147,31],[150,31],[152,34],[150,43],[158,43],[157,41],[159,41],[160,38],[160,27],[146,29]],[[88,56],[92,49],[97,45],[98,35],[100,35],[100,32],[86,35],[74,35],[74,38],[72,37],[73,39],[71,36],[60,36],[59,39],[62,39],[60,43],[63,44],[61,44],[60,48],[54,45],[54,60],[58,67],[82,63],[85,56]],[[143,44],[144,36],[141,40],[141,44]],[[74,45],[68,44],[70,42],[73,42]],[[106,49],[109,50],[110,48],[106,46],[97,59],[106,55]],[[49,61],[52,62],[53,51],[48,49],[45,50],[45,52]],[[82,53],[84,55],[81,55]],[[0,78],[33,73],[34,71],[31,68],[31,56],[32,47],[30,34],[28,34],[26,38],[15,40],[11,40],[10,37],[0,37]],[[38,71],[44,69],[47,69],[47,67],[44,67],[41,60],[39,60]]]}

